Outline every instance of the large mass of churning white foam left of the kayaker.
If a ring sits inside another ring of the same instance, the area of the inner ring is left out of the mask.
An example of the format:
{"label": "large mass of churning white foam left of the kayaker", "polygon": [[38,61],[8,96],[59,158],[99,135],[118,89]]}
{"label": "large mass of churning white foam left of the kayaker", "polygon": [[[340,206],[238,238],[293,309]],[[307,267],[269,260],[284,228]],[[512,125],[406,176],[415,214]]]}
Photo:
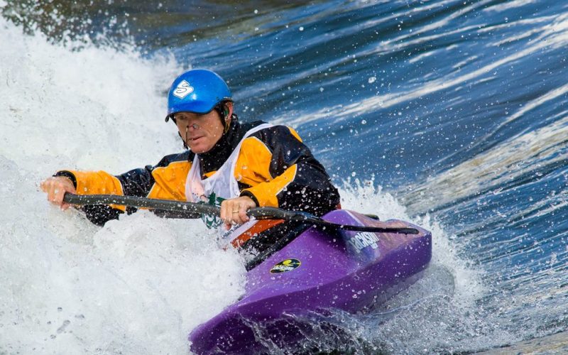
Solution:
{"label": "large mass of churning white foam left of the kayaker", "polygon": [[186,353],[190,329],[242,293],[239,256],[198,221],[142,212],[99,229],[38,191],[60,168],[123,173],[180,151],[163,92],[182,68],[1,18],[0,43],[0,353]]}

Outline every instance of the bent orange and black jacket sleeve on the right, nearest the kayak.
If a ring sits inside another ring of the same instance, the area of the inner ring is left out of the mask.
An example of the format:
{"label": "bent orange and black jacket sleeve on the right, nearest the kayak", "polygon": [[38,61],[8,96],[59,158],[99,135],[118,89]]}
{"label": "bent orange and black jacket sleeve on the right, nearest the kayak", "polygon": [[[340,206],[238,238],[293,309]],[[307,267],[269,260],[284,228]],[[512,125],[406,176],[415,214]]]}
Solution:
{"label": "bent orange and black jacket sleeve on the right, nearest the kayak", "polygon": [[[274,126],[246,138],[235,175],[258,206],[321,216],[339,205],[339,192],[324,167],[293,129]],[[246,187],[248,185],[248,187]]]}

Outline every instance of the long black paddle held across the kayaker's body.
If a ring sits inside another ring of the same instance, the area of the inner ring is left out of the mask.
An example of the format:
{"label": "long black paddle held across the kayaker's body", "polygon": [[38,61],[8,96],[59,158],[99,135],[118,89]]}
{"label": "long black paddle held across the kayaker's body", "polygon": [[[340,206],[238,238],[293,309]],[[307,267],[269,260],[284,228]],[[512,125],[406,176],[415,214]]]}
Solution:
{"label": "long black paddle held across the kayaker's body", "polygon": [[[209,214],[219,217],[221,209],[211,204],[182,202],[172,200],[156,200],[146,197],[136,196],[116,196],[116,195],[75,195],[67,192],[63,201],[70,204],[119,204],[128,207],[147,207],[151,209],[161,209],[175,211],[179,217],[196,218],[196,214]],[[418,234],[414,228],[383,227],[383,226],[352,226],[349,224],[337,224],[327,222],[313,214],[297,211],[285,211],[275,207],[256,207],[249,209],[249,217],[256,219],[284,219],[286,221],[302,222],[313,224],[319,227],[331,229],[343,229],[345,231],[371,231],[382,233]]]}

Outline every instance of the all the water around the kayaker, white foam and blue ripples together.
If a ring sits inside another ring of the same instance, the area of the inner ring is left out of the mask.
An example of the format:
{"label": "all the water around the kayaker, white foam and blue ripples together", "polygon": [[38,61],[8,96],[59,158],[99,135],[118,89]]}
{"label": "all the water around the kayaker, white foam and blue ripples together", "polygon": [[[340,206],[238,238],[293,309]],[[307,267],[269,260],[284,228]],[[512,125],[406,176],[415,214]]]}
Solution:
{"label": "all the water around the kayaker, white foam and blue ripples together", "polygon": [[[60,168],[179,151],[189,67],[242,120],[294,126],[344,207],[432,229],[425,277],[305,349],[452,353],[568,327],[564,1],[0,1],[0,352],[183,354],[244,267],[195,221],[99,229],[48,206]],[[280,351],[282,349],[272,349]]]}

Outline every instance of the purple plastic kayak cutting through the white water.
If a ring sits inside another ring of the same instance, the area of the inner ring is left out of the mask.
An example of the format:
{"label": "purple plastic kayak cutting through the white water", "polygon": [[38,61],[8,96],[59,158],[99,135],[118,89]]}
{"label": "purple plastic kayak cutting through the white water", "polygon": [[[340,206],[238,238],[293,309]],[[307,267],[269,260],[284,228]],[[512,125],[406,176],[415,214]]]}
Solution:
{"label": "purple plastic kayak cutting through the white water", "polygon": [[[294,344],[305,332],[298,317],[325,310],[361,312],[407,288],[432,257],[432,234],[407,222],[379,222],[339,209],[322,219],[356,226],[410,227],[418,234],[325,231],[311,227],[247,273],[246,292],[219,315],[195,328],[197,354],[267,351]],[[263,337],[258,334],[263,327]]]}

